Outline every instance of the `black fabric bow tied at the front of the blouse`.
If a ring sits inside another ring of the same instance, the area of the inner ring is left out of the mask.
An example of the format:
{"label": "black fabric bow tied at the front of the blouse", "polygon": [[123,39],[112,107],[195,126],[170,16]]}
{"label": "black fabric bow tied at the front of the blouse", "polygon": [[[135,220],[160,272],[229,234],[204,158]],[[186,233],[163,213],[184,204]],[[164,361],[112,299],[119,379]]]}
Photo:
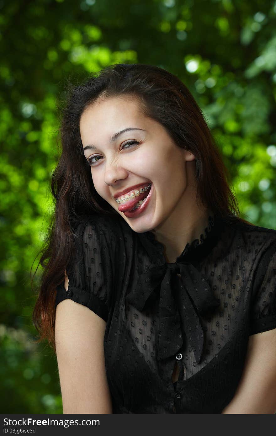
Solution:
{"label": "black fabric bow tied at the front of the blouse", "polygon": [[[177,276],[180,274],[181,280]],[[204,276],[191,263],[150,265],[140,276],[139,287],[126,300],[140,312],[159,296],[160,331],[157,359],[176,354],[185,334],[196,362],[203,351],[204,334],[198,314],[219,306]]]}

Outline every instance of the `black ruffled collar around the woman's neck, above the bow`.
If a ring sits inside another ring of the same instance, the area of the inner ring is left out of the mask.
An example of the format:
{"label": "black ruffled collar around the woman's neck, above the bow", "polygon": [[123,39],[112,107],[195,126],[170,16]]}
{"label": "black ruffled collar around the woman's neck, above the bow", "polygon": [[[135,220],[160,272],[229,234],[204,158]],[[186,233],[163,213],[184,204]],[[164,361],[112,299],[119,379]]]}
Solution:
{"label": "black ruffled collar around the woman's neck, above the bow", "polygon": [[[204,259],[217,244],[223,225],[223,218],[217,214],[209,215],[208,226],[203,229],[199,239],[194,239],[191,243],[187,242],[176,262],[200,262]],[[151,262],[158,265],[167,263],[164,255],[165,247],[156,240],[152,231],[139,233],[138,235],[143,247],[150,256]]]}

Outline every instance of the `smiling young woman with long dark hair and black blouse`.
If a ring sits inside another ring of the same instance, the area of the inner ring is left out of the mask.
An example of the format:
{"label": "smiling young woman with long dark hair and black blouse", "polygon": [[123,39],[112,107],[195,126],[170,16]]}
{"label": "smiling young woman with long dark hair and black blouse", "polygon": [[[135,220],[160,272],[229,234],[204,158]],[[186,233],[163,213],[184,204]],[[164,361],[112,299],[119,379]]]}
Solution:
{"label": "smiling young woman with long dark hair and black blouse", "polygon": [[276,231],[239,218],[191,93],[112,65],[61,142],[34,324],[64,413],[274,413]]}

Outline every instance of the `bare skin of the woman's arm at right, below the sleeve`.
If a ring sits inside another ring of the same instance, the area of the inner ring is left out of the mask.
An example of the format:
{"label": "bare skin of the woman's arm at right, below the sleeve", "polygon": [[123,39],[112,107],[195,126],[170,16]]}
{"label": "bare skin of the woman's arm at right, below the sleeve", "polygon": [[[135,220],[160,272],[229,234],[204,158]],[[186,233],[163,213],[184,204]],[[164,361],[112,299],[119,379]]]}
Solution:
{"label": "bare skin of the woman's arm at right, below the sleeve", "polygon": [[249,337],[242,378],[232,401],[221,413],[276,412],[276,328]]}

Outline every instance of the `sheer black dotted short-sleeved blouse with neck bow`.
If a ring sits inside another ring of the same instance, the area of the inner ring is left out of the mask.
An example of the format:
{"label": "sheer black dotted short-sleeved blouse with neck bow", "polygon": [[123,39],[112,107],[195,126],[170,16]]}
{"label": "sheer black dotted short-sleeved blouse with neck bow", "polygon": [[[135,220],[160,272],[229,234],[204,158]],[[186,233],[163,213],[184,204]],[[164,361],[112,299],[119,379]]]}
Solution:
{"label": "sheer black dotted short-sleeved blouse with neck bow", "polygon": [[167,263],[153,232],[136,233],[119,215],[81,217],[56,305],[70,298],[106,321],[113,413],[221,413],[249,335],[276,328],[276,230],[208,222]]}

